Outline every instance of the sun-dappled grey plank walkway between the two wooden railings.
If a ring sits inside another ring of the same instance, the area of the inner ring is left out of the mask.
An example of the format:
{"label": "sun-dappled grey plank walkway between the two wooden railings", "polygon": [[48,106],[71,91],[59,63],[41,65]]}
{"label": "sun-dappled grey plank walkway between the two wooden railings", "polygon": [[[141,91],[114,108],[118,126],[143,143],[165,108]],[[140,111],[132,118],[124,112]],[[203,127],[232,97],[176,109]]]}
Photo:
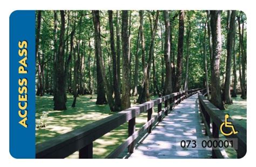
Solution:
{"label": "sun-dappled grey plank walkway between the two wooden railings", "polygon": [[[196,94],[174,107],[125,158],[211,158],[212,149],[201,147],[209,140],[203,132]],[[182,148],[181,140],[196,140],[197,147]]]}

